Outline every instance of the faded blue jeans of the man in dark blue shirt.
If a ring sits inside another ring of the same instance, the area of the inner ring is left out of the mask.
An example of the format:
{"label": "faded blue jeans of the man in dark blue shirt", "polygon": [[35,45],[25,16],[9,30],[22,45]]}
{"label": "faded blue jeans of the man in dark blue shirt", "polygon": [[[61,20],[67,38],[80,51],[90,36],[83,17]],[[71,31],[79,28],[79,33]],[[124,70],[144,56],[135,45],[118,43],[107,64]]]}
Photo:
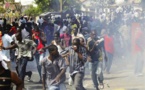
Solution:
{"label": "faded blue jeans of the man in dark blue shirt", "polygon": [[98,70],[98,65],[99,65],[99,61],[94,61],[94,62],[90,62],[90,71],[91,71],[91,77],[94,83],[94,86],[96,88],[98,88],[98,75],[96,74],[97,70]]}

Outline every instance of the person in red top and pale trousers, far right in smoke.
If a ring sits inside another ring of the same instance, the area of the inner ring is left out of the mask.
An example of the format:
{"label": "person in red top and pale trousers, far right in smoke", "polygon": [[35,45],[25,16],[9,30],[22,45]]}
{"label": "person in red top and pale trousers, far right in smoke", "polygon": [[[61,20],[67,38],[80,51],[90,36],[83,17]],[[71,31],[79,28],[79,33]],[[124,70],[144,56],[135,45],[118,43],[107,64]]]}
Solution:
{"label": "person in red top and pale trousers, far right in smoke", "polygon": [[135,32],[135,56],[136,56],[136,63],[135,63],[135,74],[137,76],[142,76],[143,71],[143,64],[144,64],[144,49],[145,49],[145,35],[144,31],[141,28],[136,29]]}

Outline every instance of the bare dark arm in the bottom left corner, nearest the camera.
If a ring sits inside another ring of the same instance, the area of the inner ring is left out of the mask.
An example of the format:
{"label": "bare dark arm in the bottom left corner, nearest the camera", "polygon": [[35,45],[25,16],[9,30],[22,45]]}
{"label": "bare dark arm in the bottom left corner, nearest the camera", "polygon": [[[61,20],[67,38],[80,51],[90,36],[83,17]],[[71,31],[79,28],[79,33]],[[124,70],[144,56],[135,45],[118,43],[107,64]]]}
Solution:
{"label": "bare dark arm in the bottom left corner, nearest the camera", "polygon": [[16,90],[22,90],[23,83],[15,72],[11,72],[12,82],[16,85]]}

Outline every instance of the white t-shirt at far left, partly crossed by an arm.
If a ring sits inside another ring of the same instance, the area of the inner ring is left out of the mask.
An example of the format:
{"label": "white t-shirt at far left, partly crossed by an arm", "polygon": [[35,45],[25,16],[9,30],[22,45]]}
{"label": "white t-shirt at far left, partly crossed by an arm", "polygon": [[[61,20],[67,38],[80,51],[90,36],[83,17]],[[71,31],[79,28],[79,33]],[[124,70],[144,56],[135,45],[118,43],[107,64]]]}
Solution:
{"label": "white t-shirt at far left, partly crossed by an arm", "polygon": [[[4,34],[4,36],[2,36],[2,41],[4,47],[9,47],[13,42],[12,38],[8,34]],[[3,50],[3,54],[10,59],[10,50]]]}

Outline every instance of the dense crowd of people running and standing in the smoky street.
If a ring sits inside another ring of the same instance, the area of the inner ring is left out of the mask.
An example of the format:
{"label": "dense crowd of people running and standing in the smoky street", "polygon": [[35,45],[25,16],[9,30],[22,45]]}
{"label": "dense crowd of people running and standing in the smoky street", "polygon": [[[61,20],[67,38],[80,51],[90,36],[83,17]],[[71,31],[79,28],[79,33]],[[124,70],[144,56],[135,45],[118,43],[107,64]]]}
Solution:
{"label": "dense crowd of people running and standing in the smoky street", "polygon": [[[103,72],[111,73],[113,58],[127,58],[131,53],[133,22],[142,23],[135,29],[135,73],[142,75],[143,21],[143,13],[120,7],[110,16],[102,12],[98,18],[67,14],[65,19],[39,17],[35,23],[33,18],[22,16],[12,24],[0,19],[0,55],[3,56],[0,77],[12,79],[17,90],[22,90],[25,76],[28,81],[32,76],[32,71],[26,72],[27,63],[35,60],[40,77],[38,83],[42,83],[43,90],[66,90],[67,69],[68,84],[75,90],[86,90],[83,86],[86,68],[90,69],[94,88],[103,89]],[[12,61],[16,63],[17,74],[10,71]],[[10,82],[9,79],[0,78],[3,82],[0,89],[10,90],[10,83],[4,83],[4,80]]]}

